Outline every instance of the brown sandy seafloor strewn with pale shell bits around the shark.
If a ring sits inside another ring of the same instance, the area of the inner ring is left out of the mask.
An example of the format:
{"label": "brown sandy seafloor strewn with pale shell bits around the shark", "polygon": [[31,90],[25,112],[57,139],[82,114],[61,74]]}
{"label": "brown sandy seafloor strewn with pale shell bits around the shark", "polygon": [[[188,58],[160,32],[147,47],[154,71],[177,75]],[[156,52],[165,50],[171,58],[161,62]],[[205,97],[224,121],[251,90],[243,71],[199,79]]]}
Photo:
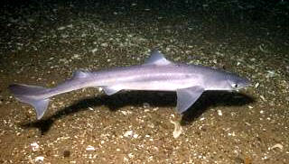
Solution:
{"label": "brown sandy seafloor strewn with pale shell bits around the shark", "polygon": [[[280,1],[4,1],[0,163],[289,163],[288,4]],[[150,50],[248,77],[175,112],[176,95],[85,88],[37,121],[12,83],[54,87],[79,68],[142,64]],[[182,133],[173,137],[174,124]],[[180,128],[180,127],[179,127]]]}

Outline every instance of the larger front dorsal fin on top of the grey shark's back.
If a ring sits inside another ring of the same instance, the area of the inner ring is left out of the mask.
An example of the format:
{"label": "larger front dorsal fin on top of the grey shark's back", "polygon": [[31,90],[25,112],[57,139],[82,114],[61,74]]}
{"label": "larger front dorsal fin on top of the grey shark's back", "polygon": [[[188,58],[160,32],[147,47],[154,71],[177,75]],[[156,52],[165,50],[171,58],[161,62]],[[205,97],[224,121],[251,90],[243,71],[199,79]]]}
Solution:
{"label": "larger front dorsal fin on top of the grey shark's back", "polygon": [[153,50],[151,53],[151,57],[146,59],[144,64],[145,65],[168,65],[172,62],[165,59],[163,53],[159,52],[158,50]]}

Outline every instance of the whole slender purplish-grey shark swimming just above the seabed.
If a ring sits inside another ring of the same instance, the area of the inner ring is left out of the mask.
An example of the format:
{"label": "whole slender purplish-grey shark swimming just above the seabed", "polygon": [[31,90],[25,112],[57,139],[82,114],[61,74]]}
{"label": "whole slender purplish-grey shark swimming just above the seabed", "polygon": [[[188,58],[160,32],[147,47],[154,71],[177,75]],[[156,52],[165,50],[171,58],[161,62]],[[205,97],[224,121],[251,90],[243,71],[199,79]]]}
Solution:
{"label": "whole slender purplish-grey shark swimming just above the seabed", "polygon": [[84,87],[102,87],[109,96],[123,89],[176,91],[177,111],[182,114],[206,90],[232,91],[248,85],[247,78],[219,69],[172,63],[153,50],[143,65],[95,72],[78,70],[53,88],[14,84],[9,89],[19,101],[33,105],[37,119],[41,119],[51,96]]}

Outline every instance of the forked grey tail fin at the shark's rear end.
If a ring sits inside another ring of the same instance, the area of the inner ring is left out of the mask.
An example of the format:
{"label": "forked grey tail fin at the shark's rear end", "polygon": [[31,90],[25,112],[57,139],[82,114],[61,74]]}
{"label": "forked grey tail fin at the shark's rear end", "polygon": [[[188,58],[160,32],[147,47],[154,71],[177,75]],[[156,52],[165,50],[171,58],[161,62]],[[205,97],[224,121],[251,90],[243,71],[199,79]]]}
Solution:
{"label": "forked grey tail fin at the shark's rear end", "polygon": [[48,88],[20,84],[11,85],[8,88],[14,94],[16,99],[23,103],[33,105],[38,120],[42,118],[43,114],[47,110],[50,99],[39,97],[41,97],[42,94],[45,94]]}

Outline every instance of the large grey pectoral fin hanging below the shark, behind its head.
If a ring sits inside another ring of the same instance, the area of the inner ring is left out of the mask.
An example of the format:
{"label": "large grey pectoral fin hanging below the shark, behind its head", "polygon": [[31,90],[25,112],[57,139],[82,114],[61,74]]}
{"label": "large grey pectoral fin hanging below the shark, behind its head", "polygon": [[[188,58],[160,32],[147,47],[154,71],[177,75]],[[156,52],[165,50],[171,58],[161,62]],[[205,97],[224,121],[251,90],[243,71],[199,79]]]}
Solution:
{"label": "large grey pectoral fin hanging below the shark, behind its head", "polygon": [[204,92],[204,88],[200,86],[177,89],[177,111],[182,114],[191,105],[193,105],[200,95]]}

